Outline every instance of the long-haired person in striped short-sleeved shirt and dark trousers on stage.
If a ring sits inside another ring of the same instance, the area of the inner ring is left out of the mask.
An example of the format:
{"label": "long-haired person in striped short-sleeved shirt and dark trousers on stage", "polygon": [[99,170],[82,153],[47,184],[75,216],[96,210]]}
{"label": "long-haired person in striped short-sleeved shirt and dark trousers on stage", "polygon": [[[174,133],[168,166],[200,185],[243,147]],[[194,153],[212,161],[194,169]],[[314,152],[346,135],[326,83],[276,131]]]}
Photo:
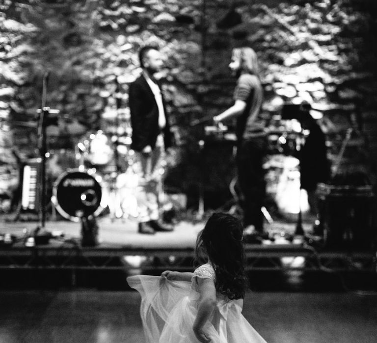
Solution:
{"label": "long-haired person in striped short-sleeved shirt and dark trousers on stage", "polygon": [[237,76],[234,104],[214,117],[215,123],[236,118],[237,171],[242,192],[243,225],[245,230],[264,232],[261,208],[266,194],[263,161],[267,152],[267,132],[261,117],[263,87],[255,51],[249,47],[235,48],[229,64]]}

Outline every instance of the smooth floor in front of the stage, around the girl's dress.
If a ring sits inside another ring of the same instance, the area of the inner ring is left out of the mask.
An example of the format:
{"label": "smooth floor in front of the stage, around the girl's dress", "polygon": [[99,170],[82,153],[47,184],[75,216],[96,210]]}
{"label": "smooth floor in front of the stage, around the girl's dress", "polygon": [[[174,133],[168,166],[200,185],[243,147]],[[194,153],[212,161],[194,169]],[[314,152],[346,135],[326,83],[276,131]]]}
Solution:
{"label": "smooth floor in front of the stage, around the girl's dress", "polygon": [[[4,343],[144,343],[136,292],[0,291]],[[269,343],[377,342],[377,295],[248,293],[243,315]]]}

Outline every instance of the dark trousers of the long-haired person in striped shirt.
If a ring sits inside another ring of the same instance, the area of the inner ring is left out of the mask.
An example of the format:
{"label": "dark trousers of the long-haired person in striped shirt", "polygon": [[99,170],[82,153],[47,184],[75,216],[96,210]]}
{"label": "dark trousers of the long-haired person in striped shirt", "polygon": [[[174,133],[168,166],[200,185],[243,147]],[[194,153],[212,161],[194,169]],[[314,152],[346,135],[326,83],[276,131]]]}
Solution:
{"label": "dark trousers of the long-haired person in striped shirt", "polygon": [[261,207],[266,195],[263,162],[267,152],[265,136],[248,138],[237,148],[238,182],[243,195],[242,210],[244,226],[254,225],[263,232],[264,216]]}

